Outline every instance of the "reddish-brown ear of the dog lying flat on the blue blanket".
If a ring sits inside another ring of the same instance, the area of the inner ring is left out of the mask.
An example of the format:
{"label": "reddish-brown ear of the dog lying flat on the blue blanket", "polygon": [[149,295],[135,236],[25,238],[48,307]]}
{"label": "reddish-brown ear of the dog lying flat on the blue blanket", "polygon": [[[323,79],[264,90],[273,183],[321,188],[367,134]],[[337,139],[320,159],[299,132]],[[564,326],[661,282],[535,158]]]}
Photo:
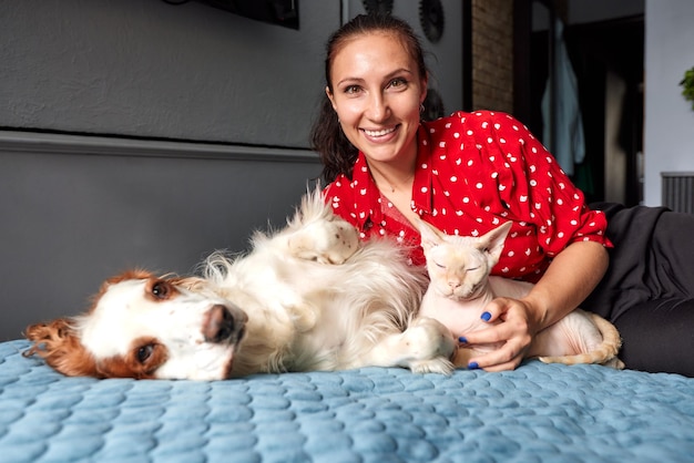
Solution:
{"label": "reddish-brown ear of the dog lying flat on the blue blanket", "polygon": [[37,354],[69,377],[99,377],[94,358],[80,342],[70,320],[59,318],[48,323],[30,325],[24,336],[33,342],[23,352],[24,357]]}

